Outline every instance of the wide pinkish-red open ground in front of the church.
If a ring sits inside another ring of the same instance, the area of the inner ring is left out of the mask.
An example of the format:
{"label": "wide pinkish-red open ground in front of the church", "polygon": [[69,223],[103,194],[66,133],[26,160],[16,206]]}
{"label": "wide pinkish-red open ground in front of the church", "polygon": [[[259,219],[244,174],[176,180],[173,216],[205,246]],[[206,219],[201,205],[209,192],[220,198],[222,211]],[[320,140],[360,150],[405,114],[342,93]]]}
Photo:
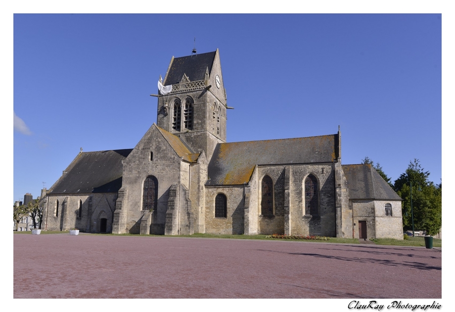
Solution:
{"label": "wide pinkish-red open ground in front of the church", "polygon": [[441,298],[441,251],[15,234],[14,277],[14,298]]}

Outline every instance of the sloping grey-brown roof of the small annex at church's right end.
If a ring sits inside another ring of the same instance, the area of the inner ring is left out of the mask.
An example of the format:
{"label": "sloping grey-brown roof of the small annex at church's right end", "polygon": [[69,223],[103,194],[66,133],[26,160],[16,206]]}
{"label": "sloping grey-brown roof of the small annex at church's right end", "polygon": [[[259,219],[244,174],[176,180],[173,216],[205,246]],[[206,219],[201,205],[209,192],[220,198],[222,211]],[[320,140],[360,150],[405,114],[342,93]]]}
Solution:
{"label": "sloping grey-brown roof of the small annex at church's right end", "polygon": [[350,199],[401,200],[371,165],[342,165]]}

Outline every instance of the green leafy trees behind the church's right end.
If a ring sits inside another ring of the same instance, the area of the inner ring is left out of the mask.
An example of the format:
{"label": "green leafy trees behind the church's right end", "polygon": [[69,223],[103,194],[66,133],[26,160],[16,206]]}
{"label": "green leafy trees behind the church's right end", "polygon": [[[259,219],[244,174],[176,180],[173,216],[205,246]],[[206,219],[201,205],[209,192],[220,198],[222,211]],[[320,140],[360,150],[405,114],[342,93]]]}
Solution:
{"label": "green leafy trees behind the church's right end", "polygon": [[401,209],[403,215],[403,228],[412,228],[412,208],[414,212],[414,228],[424,230],[427,235],[435,235],[442,225],[442,183],[434,184],[428,180],[429,171],[425,171],[418,159],[410,162],[406,171],[392,184],[390,178],[382,170],[379,163],[376,165],[366,157],[362,164],[370,164],[403,199]]}

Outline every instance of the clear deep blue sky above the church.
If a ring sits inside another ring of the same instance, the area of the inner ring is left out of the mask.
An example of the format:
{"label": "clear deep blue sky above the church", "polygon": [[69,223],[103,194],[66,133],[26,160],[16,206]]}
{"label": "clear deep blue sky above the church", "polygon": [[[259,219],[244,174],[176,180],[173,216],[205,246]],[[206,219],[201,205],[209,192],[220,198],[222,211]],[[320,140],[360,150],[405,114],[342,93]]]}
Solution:
{"label": "clear deep blue sky above the church", "polygon": [[16,14],[13,201],[80,147],[133,148],[194,45],[220,51],[228,142],[340,126],[342,164],[368,156],[394,181],[417,158],[440,183],[440,14]]}

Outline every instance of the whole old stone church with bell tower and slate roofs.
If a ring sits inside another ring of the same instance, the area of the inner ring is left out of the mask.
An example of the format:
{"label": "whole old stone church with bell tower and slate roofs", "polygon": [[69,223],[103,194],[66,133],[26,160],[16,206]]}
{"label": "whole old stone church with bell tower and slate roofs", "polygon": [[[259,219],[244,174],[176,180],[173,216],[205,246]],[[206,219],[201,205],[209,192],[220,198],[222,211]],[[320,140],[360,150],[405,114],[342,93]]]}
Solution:
{"label": "whole old stone church with bell tower and slate roofs", "polygon": [[219,51],[173,58],[132,149],[83,152],[42,191],[43,230],[403,238],[401,198],[341,165],[341,132],[226,142]]}

